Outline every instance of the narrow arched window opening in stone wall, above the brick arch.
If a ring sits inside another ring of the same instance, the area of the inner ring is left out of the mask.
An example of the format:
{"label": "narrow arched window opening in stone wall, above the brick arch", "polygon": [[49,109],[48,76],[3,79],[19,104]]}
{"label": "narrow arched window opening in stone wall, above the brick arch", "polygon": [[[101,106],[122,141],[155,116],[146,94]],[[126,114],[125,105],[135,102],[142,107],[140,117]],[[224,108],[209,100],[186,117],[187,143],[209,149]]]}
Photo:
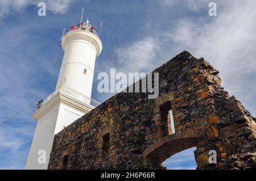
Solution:
{"label": "narrow arched window opening in stone wall, above the brick arch", "polygon": [[160,106],[160,119],[162,136],[168,136],[175,133],[174,129],[174,116],[172,115],[171,102],[168,101]]}

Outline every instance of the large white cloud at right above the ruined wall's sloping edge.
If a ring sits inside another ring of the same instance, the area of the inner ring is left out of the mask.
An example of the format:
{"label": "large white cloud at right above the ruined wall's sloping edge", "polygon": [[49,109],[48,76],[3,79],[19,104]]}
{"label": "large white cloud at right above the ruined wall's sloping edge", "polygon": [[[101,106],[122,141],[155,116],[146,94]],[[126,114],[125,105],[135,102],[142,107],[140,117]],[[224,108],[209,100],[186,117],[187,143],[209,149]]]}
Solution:
{"label": "large white cloud at right above the ruined wall's sloping edge", "polygon": [[223,6],[207,23],[181,20],[170,39],[177,49],[206,58],[220,70],[225,89],[250,105],[256,91],[256,1],[232,1]]}

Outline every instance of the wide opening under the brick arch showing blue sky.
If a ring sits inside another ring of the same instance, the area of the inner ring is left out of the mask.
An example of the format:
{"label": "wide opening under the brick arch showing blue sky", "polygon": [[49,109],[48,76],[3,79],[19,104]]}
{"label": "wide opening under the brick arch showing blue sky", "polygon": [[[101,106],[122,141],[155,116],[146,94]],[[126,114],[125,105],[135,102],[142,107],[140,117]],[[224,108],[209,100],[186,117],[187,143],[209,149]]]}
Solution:
{"label": "wide opening under the brick arch showing blue sky", "polygon": [[168,170],[195,170],[196,160],[194,151],[196,147],[180,151],[172,155],[170,158],[163,162],[163,166]]}

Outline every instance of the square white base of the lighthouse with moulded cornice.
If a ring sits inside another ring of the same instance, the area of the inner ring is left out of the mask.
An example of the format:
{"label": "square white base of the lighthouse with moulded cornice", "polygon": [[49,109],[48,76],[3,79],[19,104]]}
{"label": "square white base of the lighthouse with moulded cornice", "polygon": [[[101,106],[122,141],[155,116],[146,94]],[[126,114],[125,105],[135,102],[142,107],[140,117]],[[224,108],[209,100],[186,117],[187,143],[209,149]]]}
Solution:
{"label": "square white base of the lighthouse with moulded cornice", "polygon": [[32,117],[38,123],[26,169],[46,170],[54,135],[85,115],[85,113],[93,110],[93,108],[93,106],[81,102],[66,92],[54,92],[54,95],[32,114]]}

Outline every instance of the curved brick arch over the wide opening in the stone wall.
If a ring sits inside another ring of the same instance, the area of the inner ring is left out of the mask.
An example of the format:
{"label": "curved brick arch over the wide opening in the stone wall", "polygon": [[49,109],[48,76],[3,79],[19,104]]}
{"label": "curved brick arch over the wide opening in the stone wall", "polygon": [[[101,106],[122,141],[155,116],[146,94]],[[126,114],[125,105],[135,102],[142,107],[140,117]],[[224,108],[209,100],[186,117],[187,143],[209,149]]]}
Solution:
{"label": "curved brick arch over the wide opening in the stone wall", "polygon": [[150,166],[150,169],[163,169],[161,165],[167,158],[197,146],[202,137],[201,131],[186,130],[161,138],[143,152],[144,163]]}

